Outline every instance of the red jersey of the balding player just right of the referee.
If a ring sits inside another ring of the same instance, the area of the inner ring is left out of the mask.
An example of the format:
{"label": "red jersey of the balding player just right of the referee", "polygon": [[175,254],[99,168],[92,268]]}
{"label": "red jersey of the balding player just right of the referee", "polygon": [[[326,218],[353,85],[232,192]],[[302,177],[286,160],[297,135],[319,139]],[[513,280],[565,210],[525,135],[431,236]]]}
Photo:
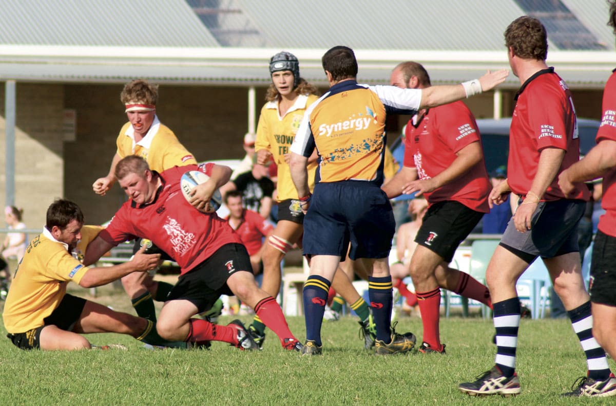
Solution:
{"label": "red jersey of the balding player just right of the referee", "polygon": [[[481,142],[475,118],[461,101],[433,107],[413,124],[417,117],[407,124],[404,166],[416,168],[419,179],[433,178],[452,164],[458,157],[456,152]],[[456,201],[487,213],[489,193],[490,181],[482,159],[460,178],[424,195],[429,204]]]}

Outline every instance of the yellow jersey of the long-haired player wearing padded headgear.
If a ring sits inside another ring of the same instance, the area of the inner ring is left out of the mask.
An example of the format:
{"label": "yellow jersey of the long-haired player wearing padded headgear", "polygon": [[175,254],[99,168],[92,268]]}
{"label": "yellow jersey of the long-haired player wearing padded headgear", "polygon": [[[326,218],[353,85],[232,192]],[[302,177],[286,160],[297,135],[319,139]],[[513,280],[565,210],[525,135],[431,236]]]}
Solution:
{"label": "yellow jersey of the long-haired player wearing padded headgear", "polygon": [[[304,118],[306,109],[318,97],[314,94],[298,96],[293,106],[280,117],[278,101],[267,102],[261,109],[259,124],[257,125],[257,139],[254,144],[255,151],[267,149],[274,157],[274,162],[278,165],[278,185],[277,201],[286,199],[298,199],[298,191],[295,189],[291,180],[289,164],[285,162],[285,154],[289,154],[291,144],[295,134],[298,132],[299,124]],[[314,188],[314,173],[317,168],[316,162],[308,165],[308,184],[310,191]]]}

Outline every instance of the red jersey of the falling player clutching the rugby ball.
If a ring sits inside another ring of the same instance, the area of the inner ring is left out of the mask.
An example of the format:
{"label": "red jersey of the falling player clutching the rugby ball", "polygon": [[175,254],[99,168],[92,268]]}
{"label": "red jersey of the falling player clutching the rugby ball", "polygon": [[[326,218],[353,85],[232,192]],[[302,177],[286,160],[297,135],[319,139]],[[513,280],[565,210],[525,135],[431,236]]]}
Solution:
{"label": "red jersey of the falling player clutching the rugby ball", "polygon": [[186,201],[180,190],[180,177],[189,170],[211,175],[214,164],[172,167],[158,174],[162,186],[150,204],[129,200],[100,232],[110,244],[148,238],[180,265],[182,275],[208,259],[229,243],[241,244],[229,223],[216,213],[202,213]]}

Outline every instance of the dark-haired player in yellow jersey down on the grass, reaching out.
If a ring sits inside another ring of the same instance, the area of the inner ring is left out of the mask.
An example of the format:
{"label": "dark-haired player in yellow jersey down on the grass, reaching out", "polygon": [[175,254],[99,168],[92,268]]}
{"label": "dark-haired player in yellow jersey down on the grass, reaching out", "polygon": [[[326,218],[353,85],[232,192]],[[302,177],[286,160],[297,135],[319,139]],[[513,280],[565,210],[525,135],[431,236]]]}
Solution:
{"label": "dark-haired player in yellow jersey down on the grass, reaching out", "polygon": [[99,229],[86,226],[82,231],[83,221],[81,209],[73,202],[57,200],[47,209],[43,233],[30,241],[4,305],[8,338],[21,349],[43,350],[89,349],[83,333],[129,334],[155,346],[185,346],[161,339],[152,321],[67,294],[69,281],[92,288],[151,270],[160,259],[142,250],[121,265],[85,267],[71,252],[86,247]]}

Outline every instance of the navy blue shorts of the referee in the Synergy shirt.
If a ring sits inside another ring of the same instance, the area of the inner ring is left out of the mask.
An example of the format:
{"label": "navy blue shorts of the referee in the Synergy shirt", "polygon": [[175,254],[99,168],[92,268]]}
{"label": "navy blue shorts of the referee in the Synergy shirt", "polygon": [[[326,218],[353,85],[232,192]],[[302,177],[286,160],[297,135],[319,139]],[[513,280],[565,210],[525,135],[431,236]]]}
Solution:
{"label": "navy blue shorts of the referee in the Synergy shirt", "polygon": [[315,185],[304,218],[304,254],[386,258],[394,238],[394,213],[373,183],[341,181]]}

